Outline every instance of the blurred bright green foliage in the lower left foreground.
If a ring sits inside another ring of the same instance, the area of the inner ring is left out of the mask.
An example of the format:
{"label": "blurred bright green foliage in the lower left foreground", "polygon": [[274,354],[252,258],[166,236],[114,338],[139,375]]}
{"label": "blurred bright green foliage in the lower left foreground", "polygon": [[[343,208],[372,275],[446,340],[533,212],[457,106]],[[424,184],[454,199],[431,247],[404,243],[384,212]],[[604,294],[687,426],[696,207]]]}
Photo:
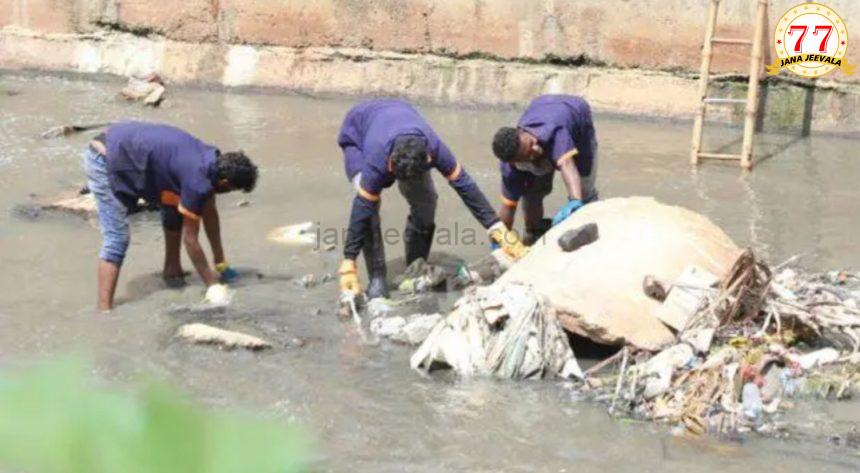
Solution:
{"label": "blurred bright green foliage in the lower left foreground", "polygon": [[209,412],[151,385],[136,395],[95,386],[79,364],[0,374],[0,468],[28,473],[298,472],[295,427]]}

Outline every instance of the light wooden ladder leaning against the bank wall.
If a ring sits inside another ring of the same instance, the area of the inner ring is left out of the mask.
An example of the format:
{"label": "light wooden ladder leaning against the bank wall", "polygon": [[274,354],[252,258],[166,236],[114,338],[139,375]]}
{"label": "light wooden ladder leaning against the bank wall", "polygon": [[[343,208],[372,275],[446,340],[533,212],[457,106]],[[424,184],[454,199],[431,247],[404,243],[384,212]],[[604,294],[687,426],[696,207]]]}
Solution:
{"label": "light wooden ladder leaning against the bank wall", "polygon": [[[717,11],[720,0],[711,0],[708,10],[708,23],[705,26],[705,44],[702,47],[702,68],[699,73],[699,97],[701,105],[693,124],[693,149],[690,154],[692,164],[699,164],[700,159],[739,160],[743,169],[752,168],[753,135],[755,134],[756,115],[758,114],[759,78],[762,70],[762,35],[767,21],[767,0],[758,0],[756,20],[752,40],[714,37],[717,25]],[[708,97],[708,85],[711,82],[711,55],[715,44],[743,44],[752,47],[750,52],[750,79],[746,99],[731,99],[723,97]],[[705,112],[708,105],[746,105],[744,120],[744,139],[741,154],[705,153],[702,152],[702,129],[705,123]]]}

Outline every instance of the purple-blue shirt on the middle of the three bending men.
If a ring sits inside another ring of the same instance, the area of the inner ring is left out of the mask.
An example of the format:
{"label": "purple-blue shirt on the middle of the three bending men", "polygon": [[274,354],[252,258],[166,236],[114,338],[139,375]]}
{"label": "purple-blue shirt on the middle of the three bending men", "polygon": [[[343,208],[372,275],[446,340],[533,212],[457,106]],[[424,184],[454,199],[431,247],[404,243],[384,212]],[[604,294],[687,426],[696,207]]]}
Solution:
{"label": "purple-blue shirt on the middle of the three bending men", "polygon": [[398,136],[415,135],[427,140],[431,165],[449,180],[460,174],[451,150],[412,105],[402,100],[368,100],[353,107],[343,120],[337,144],[344,153],[347,178],[359,172],[362,197],[378,200],[383,189],[394,184],[388,157]]}

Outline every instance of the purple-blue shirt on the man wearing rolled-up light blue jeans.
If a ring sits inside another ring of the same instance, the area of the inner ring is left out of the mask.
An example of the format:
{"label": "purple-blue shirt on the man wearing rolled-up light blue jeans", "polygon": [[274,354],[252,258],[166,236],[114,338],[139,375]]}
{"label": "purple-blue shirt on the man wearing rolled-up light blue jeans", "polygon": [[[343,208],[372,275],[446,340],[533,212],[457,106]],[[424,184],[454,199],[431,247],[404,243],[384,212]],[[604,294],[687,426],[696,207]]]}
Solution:
{"label": "purple-blue shirt on the man wearing rolled-up light blue jeans", "polygon": [[134,121],[110,126],[106,141],[111,189],[126,207],[143,199],[200,218],[215,190],[215,147],[172,126]]}

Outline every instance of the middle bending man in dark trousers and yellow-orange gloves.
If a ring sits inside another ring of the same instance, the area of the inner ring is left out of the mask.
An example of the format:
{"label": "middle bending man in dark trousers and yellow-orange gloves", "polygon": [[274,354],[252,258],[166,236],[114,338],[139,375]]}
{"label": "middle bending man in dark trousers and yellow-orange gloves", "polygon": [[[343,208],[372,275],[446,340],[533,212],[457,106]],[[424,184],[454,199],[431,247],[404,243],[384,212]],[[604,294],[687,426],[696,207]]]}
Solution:
{"label": "middle bending man in dark trousers and yellow-orange gloves", "polygon": [[379,221],[383,189],[397,182],[409,203],[403,239],[406,264],[427,259],[436,229],[436,188],[430,169],[436,168],[490,238],[513,258],[525,253],[516,234],[499,221],[495,210],[451,150],[415,108],[400,100],[369,100],[346,115],[338,145],[343,150],[346,177],[356,190],[340,266],[342,292],[358,294],[356,258],[364,252],[370,283],[367,297],[387,297],[385,253]]}

